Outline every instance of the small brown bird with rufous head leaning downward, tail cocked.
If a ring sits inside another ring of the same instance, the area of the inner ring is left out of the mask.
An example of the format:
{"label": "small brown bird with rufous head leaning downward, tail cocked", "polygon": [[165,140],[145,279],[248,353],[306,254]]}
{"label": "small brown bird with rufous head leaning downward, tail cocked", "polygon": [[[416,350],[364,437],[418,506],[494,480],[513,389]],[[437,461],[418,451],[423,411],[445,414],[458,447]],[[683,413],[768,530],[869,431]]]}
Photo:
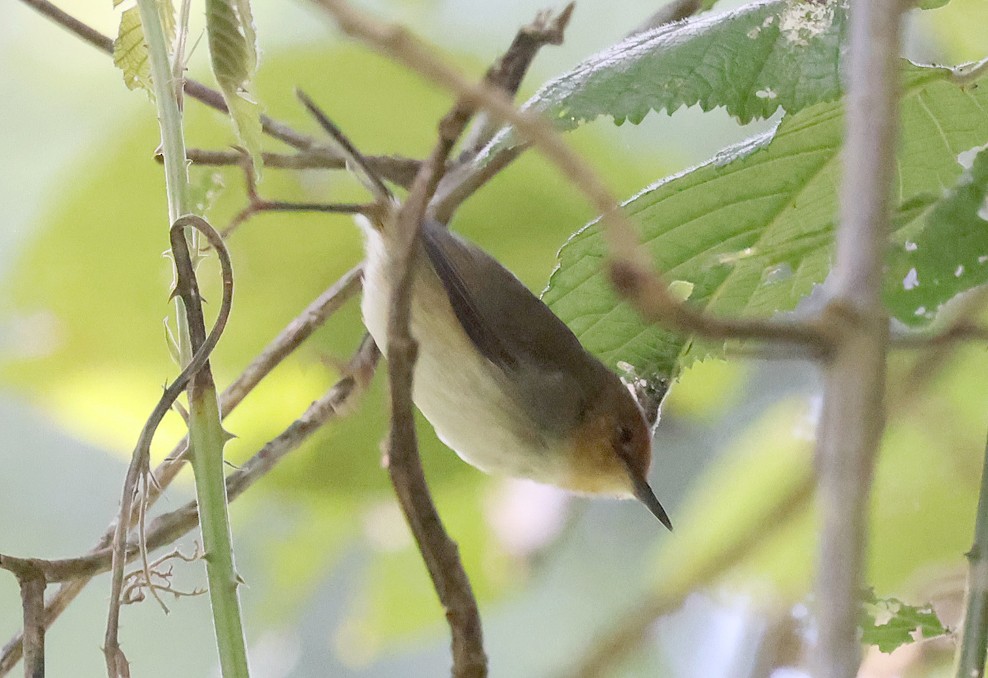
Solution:
{"label": "small brown bird with rufous head leaning downward, tail cocked", "polygon": [[[382,197],[387,189],[352,144],[300,97]],[[364,324],[387,356],[393,224],[356,220],[367,255]],[[649,426],[617,375],[479,247],[427,220],[420,248],[409,327],[419,346],[412,397],[440,440],[487,473],[579,494],[635,497],[671,530],[648,485]]]}

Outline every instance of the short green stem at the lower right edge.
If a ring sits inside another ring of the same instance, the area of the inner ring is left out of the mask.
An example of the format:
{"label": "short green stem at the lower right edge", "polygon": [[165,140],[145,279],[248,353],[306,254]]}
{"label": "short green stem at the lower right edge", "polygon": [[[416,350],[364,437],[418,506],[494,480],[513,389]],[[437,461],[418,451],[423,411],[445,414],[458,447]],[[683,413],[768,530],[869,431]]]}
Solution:
{"label": "short green stem at the lower right edge", "polygon": [[981,468],[981,494],[978,515],[974,523],[974,545],[967,553],[970,567],[967,573],[964,629],[957,648],[957,678],[982,678],[985,675],[985,653],[988,651],[988,443]]}

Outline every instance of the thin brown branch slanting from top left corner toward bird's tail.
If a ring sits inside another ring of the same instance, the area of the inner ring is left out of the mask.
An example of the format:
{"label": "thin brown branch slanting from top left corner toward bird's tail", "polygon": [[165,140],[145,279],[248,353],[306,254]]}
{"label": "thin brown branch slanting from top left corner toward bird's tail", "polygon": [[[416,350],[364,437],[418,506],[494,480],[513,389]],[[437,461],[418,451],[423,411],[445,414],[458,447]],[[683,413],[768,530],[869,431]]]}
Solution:
{"label": "thin brown branch slanting from top left corner toward bird's tail", "polygon": [[[39,13],[67,29],[70,33],[82,38],[85,42],[104,54],[113,55],[113,40],[111,38],[90,28],[72,15],[48,2],[48,0],[21,0],[21,2],[37,10]],[[222,113],[229,113],[226,103],[223,101],[223,95],[201,82],[187,78],[185,80],[185,93],[210,108],[214,108]],[[268,136],[278,139],[300,151],[312,152],[320,156],[330,156],[333,153],[332,149],[323,147],[315,138],[307,134],[302,134],[289,125],[267,115],[261,115],[261,129]],[[402,183],[402,180],[410,180],[410,164],[415,163],[414,160],[407,158],[390,156],[378,156],[374,159],[374,162],[379,165],[377,170],[381,176],[387,177],[389,180],[393,180],[402,186],[407,186],[407,184]]]}

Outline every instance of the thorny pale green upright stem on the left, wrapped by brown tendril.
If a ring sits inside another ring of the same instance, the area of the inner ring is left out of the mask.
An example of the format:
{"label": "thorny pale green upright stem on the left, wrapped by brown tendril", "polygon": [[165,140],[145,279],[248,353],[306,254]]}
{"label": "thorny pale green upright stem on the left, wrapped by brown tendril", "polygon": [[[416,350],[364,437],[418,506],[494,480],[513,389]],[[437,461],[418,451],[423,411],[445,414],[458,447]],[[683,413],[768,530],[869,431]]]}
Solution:
{"label": "thorny pale green upright stem on the left, wrapped by brown tendril", "polygon": [[[147,41],[151,61],[151,80],[154,86],[158,122],[161,127],[168,216],[169,222],[174,223],[179,217],[192,213],[192,209],[189,200],[182,111],[177,97],[178,84],[172,76],[168,45],[157,4],[155,0],[138,0],[144,38]],[[194,336],[200,334],[196,331],[196,326],[202,329],[201,308],[189,309],[198,317],[192,323],[186,323],[185,305],[180,299],[176,299],[176,304],[180,343],[182,346],[188,346],[191,353],[198,348],[195,344],[201,343],[204,338],[204,331],[201,332],[203,336]],[[190,329],[193,335],[191,340]],[[185,360],[189,356],[182,357]],[[237,596],[239,578],[233,562],[233,543],[227,514],[223,469],[223,445],[226,439],[227,434],[220,423],[216,388],[207,366],[197,378],[193,379],[189,389],[192,470],[199,503],[203,548],[206,552],[206,577],[213,609],[220,667],[224,678],[246,678],[249,675],[247,648]]]}

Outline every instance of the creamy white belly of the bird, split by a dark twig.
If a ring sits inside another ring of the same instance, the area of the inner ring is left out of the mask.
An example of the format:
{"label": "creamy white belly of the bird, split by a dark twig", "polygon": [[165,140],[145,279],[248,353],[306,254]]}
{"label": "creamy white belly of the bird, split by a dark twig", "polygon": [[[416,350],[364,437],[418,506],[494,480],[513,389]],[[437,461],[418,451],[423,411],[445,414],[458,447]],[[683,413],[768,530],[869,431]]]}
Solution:
{"label": "creamy white belly of the bird, split by a dark twig", "polygon": [[[368,234],[361,310],[367,330],[387,355],[390,284],[377,233]],[[423,266],[419,262],[419,266]],[[488,473],[552,483],[560,455],[506,392],[506,377],[473,346],[445,290],[423,267],[413,284],[411,334],[418,342],[413,399],[446,445]]]}

